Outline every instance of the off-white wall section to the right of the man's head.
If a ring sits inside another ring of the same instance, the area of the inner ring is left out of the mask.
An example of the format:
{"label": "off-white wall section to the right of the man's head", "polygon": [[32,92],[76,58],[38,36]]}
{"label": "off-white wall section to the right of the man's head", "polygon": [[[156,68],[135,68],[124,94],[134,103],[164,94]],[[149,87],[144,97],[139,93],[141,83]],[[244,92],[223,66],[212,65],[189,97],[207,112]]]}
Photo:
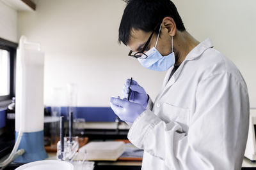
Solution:
{"label": "off-white wall section to the right of the man's head", "polygon": [[186,29],[199,41],[209,37],[214,48],[231,59],[246,81],[250,106],[256,107],[256,1],[174,0]]}

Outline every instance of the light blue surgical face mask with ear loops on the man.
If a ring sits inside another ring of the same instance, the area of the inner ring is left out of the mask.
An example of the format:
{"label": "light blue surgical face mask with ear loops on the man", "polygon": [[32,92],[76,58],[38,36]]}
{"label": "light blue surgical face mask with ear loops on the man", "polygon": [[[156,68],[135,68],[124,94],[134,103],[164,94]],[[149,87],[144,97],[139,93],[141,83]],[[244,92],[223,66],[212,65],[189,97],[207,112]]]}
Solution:
{"label": "light blue surgical face mask with ear loops on the man", "polygon": [[[156,39],[156,45],[161,31],[161,26]],[[138,59],[140,64],[154,71],[166,71],[175,64],[175,55],[173,52],[173,37],[172,37],[172,52],[169,55],[163,56],[156,49],[156,45],[145,53],[148,57],[146,59]]]}

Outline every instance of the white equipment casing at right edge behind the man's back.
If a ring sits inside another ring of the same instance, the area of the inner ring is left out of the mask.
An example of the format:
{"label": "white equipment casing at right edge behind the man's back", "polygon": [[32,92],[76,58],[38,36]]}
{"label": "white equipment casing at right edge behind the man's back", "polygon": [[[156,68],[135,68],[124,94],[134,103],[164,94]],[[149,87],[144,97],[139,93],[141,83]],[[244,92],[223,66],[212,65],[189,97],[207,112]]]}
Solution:
{"label": "white equipment casing at right edge behind the man's back", "polygon": [[244,156],[248,159],[255,161],[256,160],[256,109],[250,110],[250,121],[249,121],[249,131],[248,139],[246,143],[246,149]]}

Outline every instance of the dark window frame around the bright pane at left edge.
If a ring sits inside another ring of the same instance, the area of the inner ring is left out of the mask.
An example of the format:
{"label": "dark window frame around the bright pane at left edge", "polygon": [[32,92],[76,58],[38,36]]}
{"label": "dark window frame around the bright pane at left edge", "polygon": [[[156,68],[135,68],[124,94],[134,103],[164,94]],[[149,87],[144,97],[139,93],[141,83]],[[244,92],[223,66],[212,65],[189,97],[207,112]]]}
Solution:
{"label": "dark window frame around the bright pane at left edge", "polygon": [[16,72],[16,52],[17,43],[8,41],[6,39],[0,38],[0,49],[8,50],[10,55],[10,94],[7,96],[0,96],[0,108],[6,107],[11,103],[12,97],[15,96],[15,72]]}

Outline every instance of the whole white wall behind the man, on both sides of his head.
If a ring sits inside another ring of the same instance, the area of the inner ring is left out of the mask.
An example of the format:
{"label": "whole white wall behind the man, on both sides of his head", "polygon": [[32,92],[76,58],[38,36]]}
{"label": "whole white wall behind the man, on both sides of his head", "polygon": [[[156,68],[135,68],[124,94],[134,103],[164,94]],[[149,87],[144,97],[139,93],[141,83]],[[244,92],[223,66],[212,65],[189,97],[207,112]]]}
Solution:
{"label": "whole white wall behind the man, on both sides of his head", "polygon": [[[196,39],[211,38],[239,67],[256,107],[256,1],[173,2]],[[36,13],[19,13],[19,36],[42,43],[45,51],[45,104],[51,104],[52,87],[73,82],[79,106],[109,106],[131,76],[156,97],[164,73],[144,69],[116,42],[124,7],[121,0],[39,0]]]}

